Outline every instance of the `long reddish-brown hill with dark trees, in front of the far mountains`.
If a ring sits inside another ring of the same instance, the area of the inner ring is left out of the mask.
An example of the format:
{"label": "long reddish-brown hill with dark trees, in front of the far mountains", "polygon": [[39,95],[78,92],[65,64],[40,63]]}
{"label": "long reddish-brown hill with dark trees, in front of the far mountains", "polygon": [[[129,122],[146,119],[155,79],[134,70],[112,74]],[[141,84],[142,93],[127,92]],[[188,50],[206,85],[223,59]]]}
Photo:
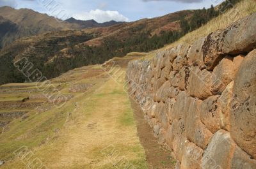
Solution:
{"label": "long reddish-brown hill with dark trees, in front of the far mountains", "polygon": [[[129,52],[149,52],[164,47],[220,14],[212,6],[207,10],[177,11],[163,17],[144,18],[108,27],[90,27],[81,31],[62,29],[21,38],[0,51],[0,84],[26,80],[13,66],[13,62],[22,57],[28,58],[45,77],[54,78],[68,70],[101,64],[116,56],[123,57]],[[44,14],[36,14],[35,18],[41,15]],[[10,16],[8,15],[10,24],[19,24]],[[38,19],[35,18],[31,20],[36,22]],[[56,22],[52,18],[50,20],[52,23]],[[69,23],[70,20],[74,23]],[[79,27],[79,23],[84,23],[72,18],[70,20],[62,24],[74,29],[74,26]],[[95,24],[93,20],[87,22]]]}

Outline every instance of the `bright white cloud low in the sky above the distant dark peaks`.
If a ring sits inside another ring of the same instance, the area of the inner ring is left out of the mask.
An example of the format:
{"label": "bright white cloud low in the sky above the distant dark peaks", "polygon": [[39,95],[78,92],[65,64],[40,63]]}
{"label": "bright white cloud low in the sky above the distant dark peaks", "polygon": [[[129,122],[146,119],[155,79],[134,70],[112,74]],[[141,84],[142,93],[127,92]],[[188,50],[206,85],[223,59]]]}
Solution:
{"label": "bright white cloud low in the sky above the distant dark peaks", "polygon": [[77,13],[73,15],[74,18],[79,20],[94,19],[97,22],[108,22],[110,20],[115,21],[129,21],[127,17],[119,13],[118,11],[103,11],[103,10],[91,10],[89,12]]}

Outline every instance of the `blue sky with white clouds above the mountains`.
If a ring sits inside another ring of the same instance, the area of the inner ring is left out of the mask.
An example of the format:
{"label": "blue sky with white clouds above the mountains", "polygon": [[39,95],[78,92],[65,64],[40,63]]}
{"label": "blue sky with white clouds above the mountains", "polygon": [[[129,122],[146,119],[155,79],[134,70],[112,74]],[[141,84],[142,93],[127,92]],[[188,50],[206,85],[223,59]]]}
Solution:
{"label": "blue sky with white clouds above the mountains", "polygon": [[188,9],[209,8],[223,0],[0,0],[0,6],[30,8],[58,18],[97,22],[134,21]]}

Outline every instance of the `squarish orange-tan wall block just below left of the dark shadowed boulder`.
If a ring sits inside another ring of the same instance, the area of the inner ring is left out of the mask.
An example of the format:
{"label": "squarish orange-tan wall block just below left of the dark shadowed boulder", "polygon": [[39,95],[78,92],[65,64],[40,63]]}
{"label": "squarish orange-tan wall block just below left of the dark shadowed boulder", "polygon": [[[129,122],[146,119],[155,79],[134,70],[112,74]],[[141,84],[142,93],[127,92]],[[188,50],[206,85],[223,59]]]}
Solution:
{"label": "squarish orange-tan wall block just below left of the dark shadowed boulder", "polygon": [[195,98],[206,99],[212,96],[211,92],[212,74],[207,70],[193,67],[189,73],[188,94]]}

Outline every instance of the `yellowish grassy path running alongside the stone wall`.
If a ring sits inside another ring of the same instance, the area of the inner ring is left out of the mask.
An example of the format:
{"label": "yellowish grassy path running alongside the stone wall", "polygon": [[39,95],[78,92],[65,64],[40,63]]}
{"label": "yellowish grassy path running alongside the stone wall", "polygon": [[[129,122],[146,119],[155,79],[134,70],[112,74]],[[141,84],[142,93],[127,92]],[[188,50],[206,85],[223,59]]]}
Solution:
{"label": "yellowish grassy path running alongside the stone wall", "polygon": [[129,98],[122,86],[109,80],[92,96],[78,101],[73,114],[79,118],[67,124],[65,149],[58,151],[50,168],[103,169],[115,168],[115,164],[122,168],[118,166],[122,158],[127,159],[125,165],[147,168]]}

